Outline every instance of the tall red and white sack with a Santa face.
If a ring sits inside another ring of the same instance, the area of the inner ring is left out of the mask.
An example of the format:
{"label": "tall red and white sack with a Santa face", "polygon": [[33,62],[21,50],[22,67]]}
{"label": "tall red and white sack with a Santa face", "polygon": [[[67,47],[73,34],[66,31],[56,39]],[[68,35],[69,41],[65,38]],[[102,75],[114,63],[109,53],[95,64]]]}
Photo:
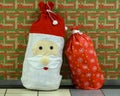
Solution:
{"label": "tall red and white sack with a Santa face", "polygon": [[64,20],[52,11],[52,2],[40,2],[39,7],[41,16],[29,33],[21,81],[28,89],[55,90],[62,79]]}

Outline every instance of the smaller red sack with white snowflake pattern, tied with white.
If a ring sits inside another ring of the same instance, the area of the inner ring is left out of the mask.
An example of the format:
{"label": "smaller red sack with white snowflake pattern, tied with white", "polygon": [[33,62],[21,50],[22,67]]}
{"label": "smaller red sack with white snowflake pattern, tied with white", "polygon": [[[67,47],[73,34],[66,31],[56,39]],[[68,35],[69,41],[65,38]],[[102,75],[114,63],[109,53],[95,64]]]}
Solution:
{"label": "smaller red sack with white snowflake pattern, tied with white", "polygon": [[71,78],[76,88],[99,89],[104,77],[90,37],[73,27],[66,43],[65,54],[71,69]]}

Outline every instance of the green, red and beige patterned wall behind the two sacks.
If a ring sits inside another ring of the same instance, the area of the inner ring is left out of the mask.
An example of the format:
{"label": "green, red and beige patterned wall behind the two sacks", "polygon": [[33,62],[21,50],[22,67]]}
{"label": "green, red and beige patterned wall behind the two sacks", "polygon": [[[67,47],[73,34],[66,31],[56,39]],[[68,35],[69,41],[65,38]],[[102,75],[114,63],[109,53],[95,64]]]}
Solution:
{"label": "green, red and beige patterned wall behind the two sacks", "polygon": [[[120,0],[0,0],[0,80],[21,77],[22,63],[31,24],[39,18],[39,1],[53,1],[69,28],[89,35],[104,77],[120,79]],[[66,40],[71,35],[67,31]],[[70,79],[66,58],[61,70]]]}

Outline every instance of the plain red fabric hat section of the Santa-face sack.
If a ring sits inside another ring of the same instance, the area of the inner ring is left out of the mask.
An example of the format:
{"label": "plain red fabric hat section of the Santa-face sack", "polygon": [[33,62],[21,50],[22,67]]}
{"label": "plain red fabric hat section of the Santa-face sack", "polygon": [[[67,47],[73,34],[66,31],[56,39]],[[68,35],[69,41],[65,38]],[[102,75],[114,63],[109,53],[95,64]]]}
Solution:
{"label": "plain red fabric hat section of the Santa-face sack", "polygon": [[32,24],[30,33],[38,33],[38,34],[49,34],[49,35],[55,35],[64,37],[65,36],[65,25],[64,20],[61,16],[58,14],[55,14],[53,12],[49,12],[51,17],[54,20],[58,21],[57,25],[53,25],[53,21],[50,18],[48,12],[46,10],[52,10],[54,7],[54,4],[52,2],[48,2],[45,4],[44,2],[39,3],[39,7],[41,10],[41,16],[39,20],[34,22]]}

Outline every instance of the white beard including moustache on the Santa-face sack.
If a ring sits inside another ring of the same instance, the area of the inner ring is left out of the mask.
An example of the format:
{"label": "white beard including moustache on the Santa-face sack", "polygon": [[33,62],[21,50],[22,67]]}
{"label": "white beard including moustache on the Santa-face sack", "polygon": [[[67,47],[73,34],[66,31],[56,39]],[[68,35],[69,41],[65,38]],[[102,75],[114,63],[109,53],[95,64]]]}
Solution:
{"label": "white beard including moustache on the Santa-face sack", "polygon": [[[59,88],[62,58],[49,56],[48,65],[41,63],[42,55],[26,58],[23,64],[22,83],[26,88],[39,90],[55,90]],[[44,67],[48,69],[45,70]]]}

